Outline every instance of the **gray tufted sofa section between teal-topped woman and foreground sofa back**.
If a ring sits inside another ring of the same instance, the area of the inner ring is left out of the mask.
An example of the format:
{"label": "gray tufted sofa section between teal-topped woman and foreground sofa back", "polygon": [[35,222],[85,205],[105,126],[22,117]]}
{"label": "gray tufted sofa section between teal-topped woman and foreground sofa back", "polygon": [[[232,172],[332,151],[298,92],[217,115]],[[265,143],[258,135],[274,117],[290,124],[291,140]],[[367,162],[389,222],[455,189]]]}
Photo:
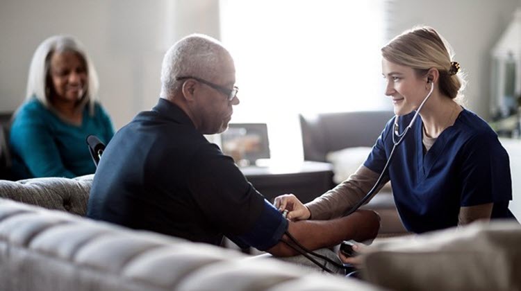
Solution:
{"label": "gray tufted sofa section between teal-topped woman and foreground sofa back", "polygon": [[0,197],[84,216],[94,175],[0,180]]}

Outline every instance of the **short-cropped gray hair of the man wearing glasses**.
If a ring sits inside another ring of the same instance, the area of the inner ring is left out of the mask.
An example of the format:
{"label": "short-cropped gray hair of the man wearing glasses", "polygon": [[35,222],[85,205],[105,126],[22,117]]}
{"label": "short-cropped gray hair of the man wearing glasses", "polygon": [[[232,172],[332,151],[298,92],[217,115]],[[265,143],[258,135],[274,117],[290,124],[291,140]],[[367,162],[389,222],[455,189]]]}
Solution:
{"label": "short-cropped gray hair of the man wearing glasses", "polygon": [[215,78],[223,58],[230,58],[229,52],[217,39],[201,34],[183,37],[163,58],[160,96],[166,98],[179,90],[182,82],[176,78]]}

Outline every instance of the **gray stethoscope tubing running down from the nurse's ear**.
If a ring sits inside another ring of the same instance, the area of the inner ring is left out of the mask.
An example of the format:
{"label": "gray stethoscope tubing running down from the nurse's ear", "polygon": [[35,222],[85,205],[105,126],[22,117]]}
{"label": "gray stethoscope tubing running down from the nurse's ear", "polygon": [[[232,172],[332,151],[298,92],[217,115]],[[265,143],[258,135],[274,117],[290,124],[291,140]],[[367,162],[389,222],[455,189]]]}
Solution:
{"label": "gray stethoscope tubing running down from the nurse's ear", "polygon": [[409,125],[407,125],[407,127],[405,127],[404,132],[402,132],[401,134],[399,133],[398,115],[395,115],[395,123],[392,127],[392,150],[389,154],[389,158],[386,161],[386,166],[383,167],[383,170],[381,171],[380,177],[378,177],[377,182],[374,183],[371,190],[367,192],[367,194],[365,194],[365,196],[355,206],[346,211],[342,216],[347,216],[351,213],[354,213],[354,211],[358,210],[358,208],[360,208],[360,206],[362,206],[370,197],[372,197],[374,192],[377,191],[377,188],[380,185],[381,180],[383,179],[383,175],[384,173],[386,173],[387,169],[389,168],[390,161],[392,160],[392,157],[394,157],[395,155],[395,149],[398,145],[402,143],[402,141],[404,141],[405,136],[407,136],[407,132],[411,129],[411,127],[413,127],[414,122],[416,121],[418,114],[420,114],[420,110],[422,110],[423,105],[425,105],[427,99],[431,97],[432,91],[434,89],[434,82],[432,80],[427,80],[427,82],[431,83],[431,89],[429,90],[429,94],[425,96],[418,109],[416,109],[416,113],[414,114],[413,119],[411,119],[411,122],[409,123]]}

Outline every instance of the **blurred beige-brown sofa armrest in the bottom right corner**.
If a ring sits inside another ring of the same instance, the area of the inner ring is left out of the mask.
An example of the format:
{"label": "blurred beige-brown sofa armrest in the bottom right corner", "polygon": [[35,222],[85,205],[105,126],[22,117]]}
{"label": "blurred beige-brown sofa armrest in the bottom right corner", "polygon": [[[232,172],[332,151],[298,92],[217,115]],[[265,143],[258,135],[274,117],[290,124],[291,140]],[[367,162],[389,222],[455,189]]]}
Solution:
{"label": "blurred beige-brown sofa armrest in the bottom right corner", "polygon": [[363,277],[389,290],[520,290],[520,243],[514,220],[374,240]]}

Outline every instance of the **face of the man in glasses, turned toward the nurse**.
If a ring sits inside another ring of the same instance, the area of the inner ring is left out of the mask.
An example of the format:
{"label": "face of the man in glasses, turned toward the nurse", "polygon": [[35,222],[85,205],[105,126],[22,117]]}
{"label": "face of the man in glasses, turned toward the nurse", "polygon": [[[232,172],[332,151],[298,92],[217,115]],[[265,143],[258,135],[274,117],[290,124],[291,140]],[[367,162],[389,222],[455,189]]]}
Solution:
{"label": "face of the man in glasses, turned toward the nurse", "polygon": [[239,99],[237,96],[229,100],[229,95],[223,91],[215,88],[215,85],[225,89],[233,89],[235,85],[235,66],[230,57],[224,58],[221,66],[217,69],[216,76],[198,82],[199,89],[196,106],[197,118],[199,120],[199,131],[202,134],[221,133],[228,128],[228,123],[233,114],[232,105],[238,105]]}

